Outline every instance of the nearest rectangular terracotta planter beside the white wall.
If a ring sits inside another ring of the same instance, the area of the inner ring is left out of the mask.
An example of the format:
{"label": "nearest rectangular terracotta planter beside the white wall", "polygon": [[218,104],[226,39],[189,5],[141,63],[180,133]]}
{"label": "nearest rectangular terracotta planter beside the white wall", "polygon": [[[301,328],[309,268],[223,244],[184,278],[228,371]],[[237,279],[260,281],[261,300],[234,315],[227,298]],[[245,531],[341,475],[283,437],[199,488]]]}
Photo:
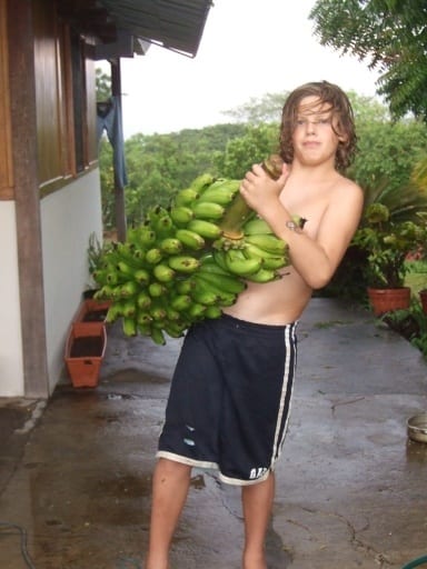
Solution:
{"label": "nearest rectangular terracotta planter beside the white wall", "polygon": [[66,343],[66,365],[73,387],[97,387],[106,355],[107,331],[102,325],[75,322]]}

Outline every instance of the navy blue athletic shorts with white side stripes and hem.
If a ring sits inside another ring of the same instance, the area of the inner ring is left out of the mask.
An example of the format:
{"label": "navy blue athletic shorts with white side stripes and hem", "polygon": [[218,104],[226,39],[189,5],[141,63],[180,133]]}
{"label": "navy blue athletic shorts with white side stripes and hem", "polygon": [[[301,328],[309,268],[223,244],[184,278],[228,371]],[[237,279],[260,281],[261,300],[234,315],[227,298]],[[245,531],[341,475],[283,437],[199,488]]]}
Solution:
{"label": "navy blue athletic shorts with white side stripes and hem", "polygon": [[172,377],[157,456],[217,469],[226,483],[265,480],[285,440],[296,326],[222,315],[191,327]]}

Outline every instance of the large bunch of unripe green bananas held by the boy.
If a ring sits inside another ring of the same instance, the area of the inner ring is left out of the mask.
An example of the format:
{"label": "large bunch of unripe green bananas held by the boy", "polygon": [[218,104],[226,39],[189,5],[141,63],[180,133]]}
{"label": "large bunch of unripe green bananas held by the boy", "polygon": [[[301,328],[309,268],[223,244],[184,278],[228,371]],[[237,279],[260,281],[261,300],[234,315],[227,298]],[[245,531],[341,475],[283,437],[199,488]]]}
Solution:
{"label": "large bunch of unripe green bananas held by the boy", "polygon": [[218,318],[247,281],[278,278],[289,262],[287,246],[242,208],[239,187],[240,180],[203,173],[170,207],[150,207],[126,242],[106,249],[93,278],[97,298],[112,301],[108,322],[121,319],[126,336],[165,345],[193,322]]}

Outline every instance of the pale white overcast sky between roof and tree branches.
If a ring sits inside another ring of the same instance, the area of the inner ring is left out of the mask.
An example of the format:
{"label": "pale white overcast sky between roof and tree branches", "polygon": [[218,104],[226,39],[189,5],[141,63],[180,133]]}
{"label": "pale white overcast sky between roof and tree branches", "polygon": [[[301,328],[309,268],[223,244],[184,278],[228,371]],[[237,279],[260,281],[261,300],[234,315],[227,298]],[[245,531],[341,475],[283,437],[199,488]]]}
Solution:
{"label": "pale white overcast sky between roof and tree branches", "polygon": [[195,58],[150,46],[121,59],[125,138],[230,122],[224,111],[308,81],[375,96],[377,73],[320,46],[316,0],[214,0]]}

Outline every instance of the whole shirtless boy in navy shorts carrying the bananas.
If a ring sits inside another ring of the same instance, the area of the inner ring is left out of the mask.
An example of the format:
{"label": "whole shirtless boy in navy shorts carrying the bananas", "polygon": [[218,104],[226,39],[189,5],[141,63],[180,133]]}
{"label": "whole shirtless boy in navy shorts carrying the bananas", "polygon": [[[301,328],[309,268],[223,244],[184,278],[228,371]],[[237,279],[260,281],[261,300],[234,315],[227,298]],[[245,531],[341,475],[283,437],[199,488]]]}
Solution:
{"label": "whole shirtless boy in navy shorts carrying the bananas", "polygon": [[[296,325],[314,289],[338,267],[360,219],[361,189],[345,178],[356,147],[352,111],[335,84],[307,83],[287,98],[279,180],[256,164],[246,202],[289,246],[272,282],[248,283],[218,320],[196,325],[177,362],[153,473],[146,569],[167,569],[192,467],[241,487],[242,569],[266,569],[275,463],[285,439],[296,362]],[[292,214],[307,220],[304,229]]]}

